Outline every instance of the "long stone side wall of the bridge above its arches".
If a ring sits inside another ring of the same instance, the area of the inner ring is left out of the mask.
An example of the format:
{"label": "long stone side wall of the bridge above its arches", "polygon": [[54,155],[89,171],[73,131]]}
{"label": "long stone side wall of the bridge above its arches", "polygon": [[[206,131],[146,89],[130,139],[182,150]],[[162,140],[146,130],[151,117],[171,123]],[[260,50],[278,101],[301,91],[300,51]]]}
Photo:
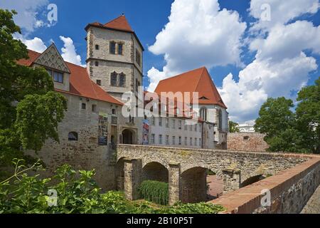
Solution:
{"label": "long stone side wall of the bridge above its arches", "polygon": [[159,162],[169,169],[171,162],[178,163],[181,174],[193,167],[204,167],[222,177],[223,170],[238,168],[241,182],[256,175],[275,175],[309,159],[307,155],[281,153],[117,145],[117,160],[122,157],[142,159],[143,167],[149,162]]}

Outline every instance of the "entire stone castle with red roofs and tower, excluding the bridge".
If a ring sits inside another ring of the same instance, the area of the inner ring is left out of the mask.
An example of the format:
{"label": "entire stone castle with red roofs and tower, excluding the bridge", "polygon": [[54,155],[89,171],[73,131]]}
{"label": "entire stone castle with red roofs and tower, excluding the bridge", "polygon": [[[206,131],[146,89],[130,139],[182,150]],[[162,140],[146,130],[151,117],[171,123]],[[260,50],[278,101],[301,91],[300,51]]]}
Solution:
{"label": "entire stone castle with red roofs and tower, excluding the bridge", "polygon": [[145,91],[139,95],[143,86],[142,43],[124,15],[107,24],[87,24],[85,31],[86,68],[63,61],[54,44],[43,53],[28,50],[29,58],[18,61],[24,66],[46,68],[55,90],[68,100],[65,118],[58,126],[60,142],[47,140],[36,155],[47,165],[43,175],[51,175],[65,163],[75,170],[95,169],[100,187],[109,190],[116,187],[117,144],[227,148],[227,107],[206,68],[160,81],[154,92],[198,93],[189,107],[192,120],[178,108],[177,103],[185,103],[183,99],[174,98],[174,115],[167,115],[168,106],[161,100],[172,100],[161,95],[152,108],[164,115],[125,116],[123,110],[131,112],[132,106],[122,100],[124,93],[132,93],[134,103],[142,103],[142,108],[148,105],[144,96],[152,94]]}

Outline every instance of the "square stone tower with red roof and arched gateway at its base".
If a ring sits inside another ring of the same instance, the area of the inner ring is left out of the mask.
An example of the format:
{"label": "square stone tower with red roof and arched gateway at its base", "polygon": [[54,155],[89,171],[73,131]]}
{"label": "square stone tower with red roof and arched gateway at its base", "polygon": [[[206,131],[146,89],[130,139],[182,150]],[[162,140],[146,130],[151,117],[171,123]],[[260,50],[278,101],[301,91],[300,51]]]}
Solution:
{"label": "square stone tower with red roof and arched gateway at its base", "polygon": [[[138,102],[138,89],[142,86],[143,51],[136,33],[126,17],[119,16],[107,24],[95,22],[85,27],[87,31],[87,71],[91,80],[122,103],[123,93],[132,92]],[[117,115],[117,142],[142,143],[142,118]],[[114,130],[115,131],[115,130]]]}

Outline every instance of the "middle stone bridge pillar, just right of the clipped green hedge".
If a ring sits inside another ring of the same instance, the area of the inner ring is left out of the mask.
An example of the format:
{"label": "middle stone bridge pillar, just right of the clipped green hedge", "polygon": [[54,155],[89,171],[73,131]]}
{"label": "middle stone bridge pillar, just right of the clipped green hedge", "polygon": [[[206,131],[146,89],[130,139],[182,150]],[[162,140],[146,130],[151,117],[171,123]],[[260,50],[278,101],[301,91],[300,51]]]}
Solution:
{"label": "middle stone bridge pillar, just right of the clipped green hedge", "polygon": [[171,162],[169,164],[169,205],[180,200],[181,196],[181,174],[180,164]]}

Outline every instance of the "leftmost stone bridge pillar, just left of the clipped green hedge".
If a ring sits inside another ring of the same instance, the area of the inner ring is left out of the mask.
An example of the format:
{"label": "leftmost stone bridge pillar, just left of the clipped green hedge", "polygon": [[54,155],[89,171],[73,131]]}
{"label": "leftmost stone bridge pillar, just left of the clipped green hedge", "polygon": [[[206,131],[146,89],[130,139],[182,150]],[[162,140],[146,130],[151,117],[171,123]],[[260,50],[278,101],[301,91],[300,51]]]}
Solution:
{"label": "leftmost stone bridge pillar, just left of the clipped green hedge", "polygon": [[124,195],[126,199],[139,199],[138,188],[141,184],[142,160],[124,159]]}

